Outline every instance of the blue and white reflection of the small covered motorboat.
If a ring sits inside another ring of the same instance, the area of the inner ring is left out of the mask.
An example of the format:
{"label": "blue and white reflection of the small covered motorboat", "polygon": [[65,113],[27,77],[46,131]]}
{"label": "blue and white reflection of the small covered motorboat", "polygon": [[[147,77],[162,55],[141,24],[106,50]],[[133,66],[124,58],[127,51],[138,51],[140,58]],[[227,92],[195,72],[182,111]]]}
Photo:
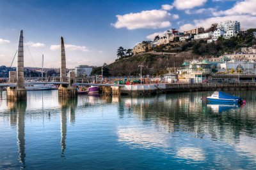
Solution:
{"label": "blue and white reflection of the small covered motorboat", "polygon": [[243,105],[238,104],[238,103],[218,103],[218,102],[210,102],[207,104],[208,108],[211,108],[211,110],[215,113],[222,113],[224,111],[229,111],[229,110],[237,110],[239,108],[243,108]]}

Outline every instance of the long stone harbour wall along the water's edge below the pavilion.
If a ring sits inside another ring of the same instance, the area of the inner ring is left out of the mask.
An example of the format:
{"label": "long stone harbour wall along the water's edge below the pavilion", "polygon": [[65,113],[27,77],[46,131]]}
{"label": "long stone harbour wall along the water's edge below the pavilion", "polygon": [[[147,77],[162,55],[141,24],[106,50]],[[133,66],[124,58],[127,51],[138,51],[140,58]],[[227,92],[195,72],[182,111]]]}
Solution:
{"label": "long stone harbour wall along the water's edge below the pavilion", "polygon": [[[116,89],[116,87],[111,87]],[[124,85],[120,87],[123,95],[150,95],[168,92],[196,92],[211,90],[256,90],[256,83],[161,83],[148,85]]]}

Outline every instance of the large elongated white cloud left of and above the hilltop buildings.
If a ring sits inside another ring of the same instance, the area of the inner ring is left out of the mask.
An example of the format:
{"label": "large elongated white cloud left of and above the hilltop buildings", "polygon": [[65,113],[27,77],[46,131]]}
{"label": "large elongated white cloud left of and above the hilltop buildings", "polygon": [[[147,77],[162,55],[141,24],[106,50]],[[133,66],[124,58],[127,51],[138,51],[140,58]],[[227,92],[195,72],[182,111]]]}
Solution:
{"label": "large elongated white cloud left of and above the hilltop buildings", "polygon": [[170,27],[170,20],[179,18],[164,10],[141,11],[140,13],[129,13],[116,15],[117,21],[113,25],[116,29],[158,29]]}

